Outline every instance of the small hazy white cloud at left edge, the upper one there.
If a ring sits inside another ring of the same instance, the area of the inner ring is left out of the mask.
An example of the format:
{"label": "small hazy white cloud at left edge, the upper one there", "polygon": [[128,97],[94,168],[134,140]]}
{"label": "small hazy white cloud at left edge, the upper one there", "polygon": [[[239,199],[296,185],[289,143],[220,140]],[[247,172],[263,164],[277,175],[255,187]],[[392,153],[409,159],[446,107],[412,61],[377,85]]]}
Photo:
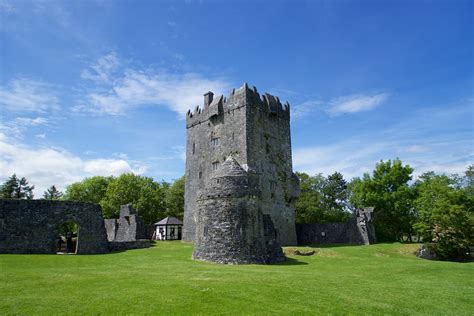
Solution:
{"label": "small hazy white cloud at left edge, the upper one there", "polygon": [[0,106],[12,112],[40,113],[59,108],[52,85],[26,78],[0,86]]}

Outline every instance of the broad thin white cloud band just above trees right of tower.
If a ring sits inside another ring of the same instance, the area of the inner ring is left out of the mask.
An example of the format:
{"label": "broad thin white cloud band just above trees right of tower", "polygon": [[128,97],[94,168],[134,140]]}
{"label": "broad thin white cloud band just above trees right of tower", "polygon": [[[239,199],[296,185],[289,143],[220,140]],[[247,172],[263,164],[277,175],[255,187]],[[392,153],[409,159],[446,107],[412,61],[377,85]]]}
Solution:
{"label": "broad thin white cloud band just above trees right of tower", "polygon": [[472,128],[456,126],[472,113],[472,106],[420,109],[402,121],[373,132],[355,130],[330,145],[295,148],[295,170],[309,174],[339,171],[346,179],[372,172],[380,160],[397,157],[414,168],[413,178],[426,171],[463,174],[474,163]]}

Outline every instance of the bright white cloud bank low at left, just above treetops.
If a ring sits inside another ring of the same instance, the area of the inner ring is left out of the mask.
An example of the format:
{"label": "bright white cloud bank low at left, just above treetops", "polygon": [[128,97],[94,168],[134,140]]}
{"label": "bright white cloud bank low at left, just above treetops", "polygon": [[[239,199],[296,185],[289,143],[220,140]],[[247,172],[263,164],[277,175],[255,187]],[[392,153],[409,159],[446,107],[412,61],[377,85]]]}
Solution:
{"label": "bright white cloud bank low at left, just above treetops", "polygon": [[16,173],[35,185],[35,196],[41,197],[51,185],[64,190],[68,184],[85,177],[118,176],[133,172],[142,174],[145,166],[123,159],[82,159],[57,148],[33,148],[0,133],[0,181]]}

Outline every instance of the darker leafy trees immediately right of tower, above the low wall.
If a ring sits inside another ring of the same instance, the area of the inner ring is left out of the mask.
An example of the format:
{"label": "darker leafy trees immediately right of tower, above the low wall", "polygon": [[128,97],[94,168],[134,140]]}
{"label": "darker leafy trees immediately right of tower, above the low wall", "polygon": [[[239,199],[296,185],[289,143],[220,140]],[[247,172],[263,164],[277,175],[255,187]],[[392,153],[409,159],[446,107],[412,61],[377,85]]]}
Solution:
{"label": "darker leafy trees immediately right of tower, above the low wall", "polygon": [[339,222],[346,220],[349,191],[347,183],[338,172],[325,178],[297,172],[300,179],[300,196],[296,200],[298,223]]}

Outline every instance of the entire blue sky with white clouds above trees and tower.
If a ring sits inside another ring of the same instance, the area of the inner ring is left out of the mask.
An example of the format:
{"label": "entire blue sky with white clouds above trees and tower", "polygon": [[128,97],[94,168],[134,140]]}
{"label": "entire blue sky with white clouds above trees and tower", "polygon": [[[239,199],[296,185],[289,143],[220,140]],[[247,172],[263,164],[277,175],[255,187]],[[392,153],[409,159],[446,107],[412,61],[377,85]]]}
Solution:
{"label": "entire blue sky with white clouds above trees and tower", "polygon": [[243,82],[291,104],[293,164],[347,179],[474,151],[472,1],[0,0],[0,181],[184,173],[188,108]]}

